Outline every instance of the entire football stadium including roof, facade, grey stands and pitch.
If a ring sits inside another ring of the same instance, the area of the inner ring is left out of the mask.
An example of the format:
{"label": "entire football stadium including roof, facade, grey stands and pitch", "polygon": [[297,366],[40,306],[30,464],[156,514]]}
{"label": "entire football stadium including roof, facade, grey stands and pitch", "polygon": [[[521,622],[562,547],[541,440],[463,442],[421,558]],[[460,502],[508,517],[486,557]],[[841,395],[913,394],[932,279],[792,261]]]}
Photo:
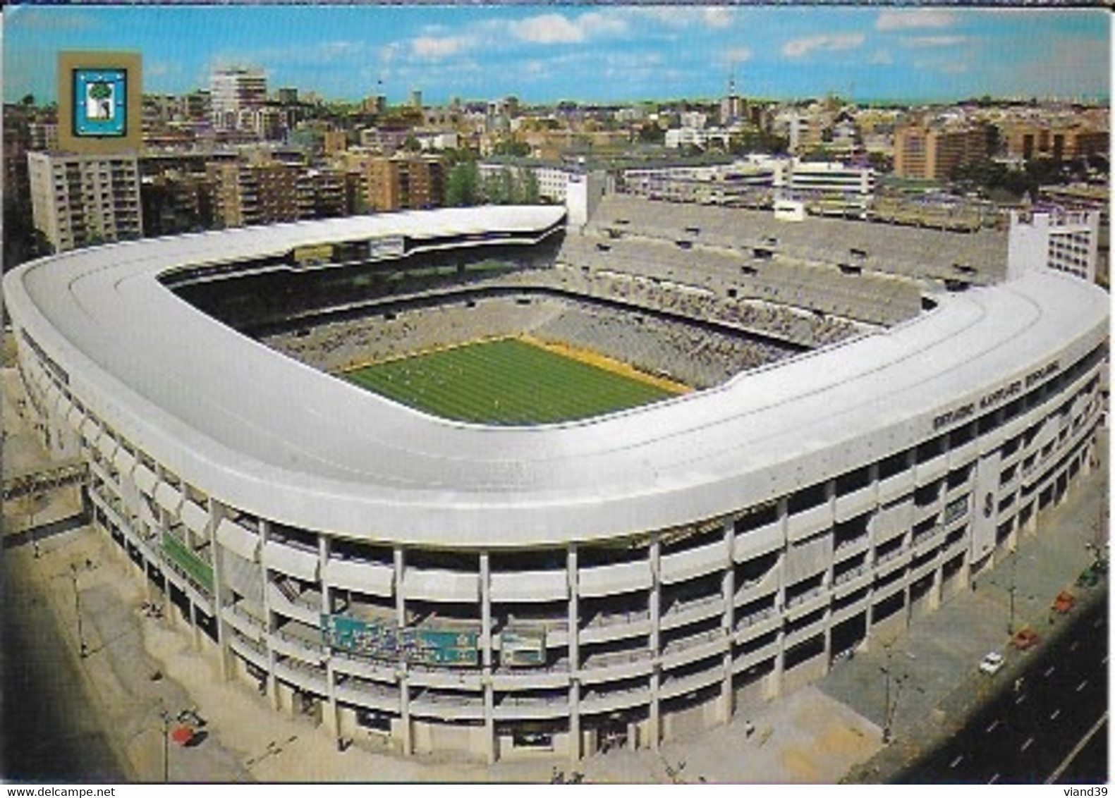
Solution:
{"label": "entire football stadium including roof, facade, grey stands and pitch", "polygon": [[609,195],[3,288],[45,444],[226,679],[493,762],[725,723],[1040,534],[1095,456],[1108,296],[1006,254]]}

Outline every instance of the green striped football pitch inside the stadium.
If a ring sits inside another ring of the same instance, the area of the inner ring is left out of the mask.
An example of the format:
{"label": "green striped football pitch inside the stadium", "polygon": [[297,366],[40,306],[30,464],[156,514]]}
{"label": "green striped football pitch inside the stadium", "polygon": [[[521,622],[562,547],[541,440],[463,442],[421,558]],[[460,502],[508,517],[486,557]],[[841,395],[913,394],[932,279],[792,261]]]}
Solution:
{"label": "green striped football pitch inside the stadium", "polygon": [[493,425],[590,418],[673,396],[517,339],[389,360],[341,377],[435,416]]}

